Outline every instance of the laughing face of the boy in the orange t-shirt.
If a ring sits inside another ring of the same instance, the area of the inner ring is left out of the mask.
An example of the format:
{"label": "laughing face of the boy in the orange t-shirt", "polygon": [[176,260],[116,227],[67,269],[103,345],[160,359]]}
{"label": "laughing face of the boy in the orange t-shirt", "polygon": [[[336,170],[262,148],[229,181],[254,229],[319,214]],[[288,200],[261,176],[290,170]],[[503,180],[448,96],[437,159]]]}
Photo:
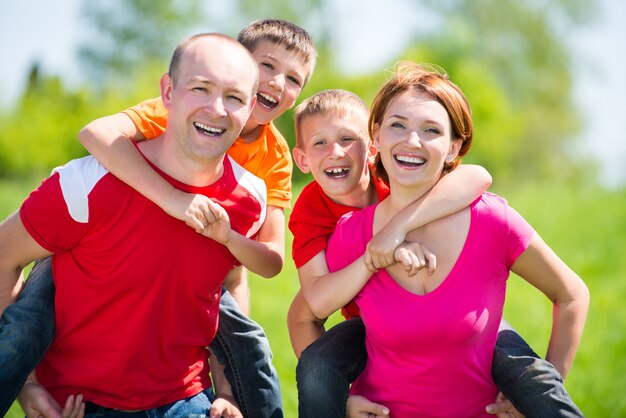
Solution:
{"label": "laughing face of the boy in the orange t-shirt", "polygon": [[268,123],[291,108],[302,91],[310,65],[296,51],[287,51],[270,41],[261,41],[252,51],[259,65],[257,104],[251,118]]}

